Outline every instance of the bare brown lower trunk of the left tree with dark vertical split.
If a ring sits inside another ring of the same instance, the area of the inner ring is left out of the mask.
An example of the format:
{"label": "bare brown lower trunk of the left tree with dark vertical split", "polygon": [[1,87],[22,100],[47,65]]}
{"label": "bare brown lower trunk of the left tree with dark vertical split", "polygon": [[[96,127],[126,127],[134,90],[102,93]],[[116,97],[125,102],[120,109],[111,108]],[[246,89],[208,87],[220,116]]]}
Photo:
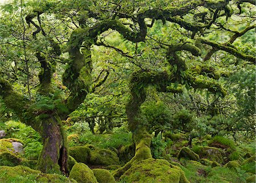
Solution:
{"label": "bare brown lower trunk of the left tree with dark vertical split", "polygon": [[44,173],[68,174],[67,135],[60,120],[55,117],[44,119],[40,128],[43,150],[36,167]]}

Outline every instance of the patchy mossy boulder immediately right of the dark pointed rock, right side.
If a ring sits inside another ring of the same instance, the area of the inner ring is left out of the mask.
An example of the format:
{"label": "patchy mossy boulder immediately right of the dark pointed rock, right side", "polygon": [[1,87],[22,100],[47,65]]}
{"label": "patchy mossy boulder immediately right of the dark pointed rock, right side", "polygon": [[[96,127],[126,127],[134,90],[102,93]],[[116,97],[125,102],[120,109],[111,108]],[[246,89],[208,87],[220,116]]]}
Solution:
{"label": "patchy mossy boulder immediately right of the dark pointed rock, right side", "polygon": [[216,147],[199,146],[196,148],[196,153],[199,154],[200,159],[208,159],[222,164],[224,162],[221,151]]}

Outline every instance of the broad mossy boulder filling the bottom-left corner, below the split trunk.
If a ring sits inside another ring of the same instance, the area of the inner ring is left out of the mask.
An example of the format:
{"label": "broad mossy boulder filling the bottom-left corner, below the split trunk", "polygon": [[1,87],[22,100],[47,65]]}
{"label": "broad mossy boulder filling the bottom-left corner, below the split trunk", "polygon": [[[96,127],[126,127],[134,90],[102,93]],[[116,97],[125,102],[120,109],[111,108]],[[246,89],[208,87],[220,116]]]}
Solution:
{"label": "broad mossy boulder filling the bottom-left corner, below the split trunk", "polygon": [[46,174],[34,169],[18,165],[16,167],[0,167],[0,182],[76,182],[61,175]]}

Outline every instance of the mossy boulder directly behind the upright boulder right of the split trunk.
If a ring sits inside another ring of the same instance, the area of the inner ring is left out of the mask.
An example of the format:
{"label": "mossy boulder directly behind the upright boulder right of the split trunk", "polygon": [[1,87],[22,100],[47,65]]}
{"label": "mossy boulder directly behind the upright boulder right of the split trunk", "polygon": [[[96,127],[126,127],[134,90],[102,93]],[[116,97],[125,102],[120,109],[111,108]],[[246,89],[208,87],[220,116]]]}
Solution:
{"label": "mossy boulder directly behind the upright boulder right of the split trunk", "polygon": [[90,160],[90,148],[86,146],[70,147],[69,155],[71,155],[77,162],[87,164]]}

